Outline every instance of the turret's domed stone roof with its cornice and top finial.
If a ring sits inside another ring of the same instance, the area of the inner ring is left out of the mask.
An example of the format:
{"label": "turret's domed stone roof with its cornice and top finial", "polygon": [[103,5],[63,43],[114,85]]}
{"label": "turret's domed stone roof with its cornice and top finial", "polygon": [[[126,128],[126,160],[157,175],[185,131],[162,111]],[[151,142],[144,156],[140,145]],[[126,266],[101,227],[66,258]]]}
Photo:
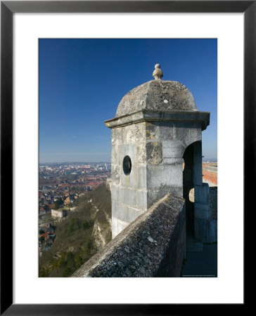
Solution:
{"label": "turret's domed stone roof with its cornice and top finial", "polygon": [[182,121],[210,123],[210,112],[198,111],[192,93],[178,81],[161,80],[160,65],[155,65],[155,80],[136,86],[120,101],[113,119],[105,121],[110,129],[141,121]]}

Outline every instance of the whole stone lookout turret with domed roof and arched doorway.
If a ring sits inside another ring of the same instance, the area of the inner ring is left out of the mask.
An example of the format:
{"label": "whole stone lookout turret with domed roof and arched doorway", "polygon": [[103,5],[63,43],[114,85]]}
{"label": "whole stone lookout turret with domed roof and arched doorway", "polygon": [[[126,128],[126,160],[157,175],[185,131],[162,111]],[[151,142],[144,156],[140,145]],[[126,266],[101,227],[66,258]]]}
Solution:
{"label": "whole stone lookout turret with domed roof and arched doorway", "polygon": [[113,237],[171,193],[186,199],[187,230],[200,239],[207,230],[201,134],[210,113],[198,111],[186,86],[162,80],[159,64],[153,77],[129,91],[115,118],[105,121],[112,129]]}

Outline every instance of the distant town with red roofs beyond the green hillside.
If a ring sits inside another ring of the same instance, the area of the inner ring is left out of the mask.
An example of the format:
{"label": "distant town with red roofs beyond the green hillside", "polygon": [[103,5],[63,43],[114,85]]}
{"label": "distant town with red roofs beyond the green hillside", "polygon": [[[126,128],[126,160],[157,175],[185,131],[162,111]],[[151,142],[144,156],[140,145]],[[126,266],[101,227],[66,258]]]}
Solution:
{"label": "distant town with red roofs beyond the green hillside", "polygon": [[50,249],[56,223],[75,211],[76,201],[111,176],[108,162],[39,164],[39,254]]}

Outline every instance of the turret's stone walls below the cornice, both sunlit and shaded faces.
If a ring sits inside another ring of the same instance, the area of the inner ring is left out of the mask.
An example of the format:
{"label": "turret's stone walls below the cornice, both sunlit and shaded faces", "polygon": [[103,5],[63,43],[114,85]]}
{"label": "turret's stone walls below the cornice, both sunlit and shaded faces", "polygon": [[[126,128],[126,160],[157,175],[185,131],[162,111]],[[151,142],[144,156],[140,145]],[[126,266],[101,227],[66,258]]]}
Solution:
{"label": "turret's stone walls below the cornice, both sunlit and shaded faces", "polygon": [[[112,129],[113,237],[167,193],[182,197],[182,157],[198,140],[197,122],[143,121]],[[129,175],[123,171],[127,156],[132,161]]]}

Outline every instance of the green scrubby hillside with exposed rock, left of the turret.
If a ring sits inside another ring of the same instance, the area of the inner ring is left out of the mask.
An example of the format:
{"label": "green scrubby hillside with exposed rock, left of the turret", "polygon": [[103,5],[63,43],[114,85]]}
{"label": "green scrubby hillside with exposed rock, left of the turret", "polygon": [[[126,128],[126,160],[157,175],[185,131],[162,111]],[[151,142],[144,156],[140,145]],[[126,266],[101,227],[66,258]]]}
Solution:
{"label": "green scrubby hillside with exposed rock, left of the turret", "polygon": [[56,223],[56,238],[39,258],[39,277],[69,277],[111,240],[111,195],[107,186],[79,197],[75,211]]}

